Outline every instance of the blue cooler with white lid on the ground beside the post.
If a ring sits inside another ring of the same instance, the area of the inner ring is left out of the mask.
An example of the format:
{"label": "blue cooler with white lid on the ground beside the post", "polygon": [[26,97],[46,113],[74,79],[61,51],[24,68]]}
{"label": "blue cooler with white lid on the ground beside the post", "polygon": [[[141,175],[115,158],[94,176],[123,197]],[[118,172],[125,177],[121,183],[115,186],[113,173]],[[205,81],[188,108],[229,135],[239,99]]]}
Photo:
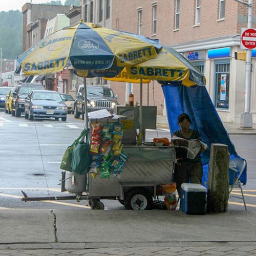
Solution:
{"label": "blue cooler with white lid on the ground beside the post", "polygon": [[185,214],[205,214],[206,188],[201,184],[181,184],[181,210]]}

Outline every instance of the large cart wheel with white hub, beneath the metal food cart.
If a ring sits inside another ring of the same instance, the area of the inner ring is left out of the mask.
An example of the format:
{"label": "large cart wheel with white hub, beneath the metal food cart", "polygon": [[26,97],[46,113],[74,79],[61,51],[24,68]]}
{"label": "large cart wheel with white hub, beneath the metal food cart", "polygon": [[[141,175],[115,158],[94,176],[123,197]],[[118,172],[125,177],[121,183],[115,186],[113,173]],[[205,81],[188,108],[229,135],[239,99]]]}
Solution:
{"label": "large cart wheel with white hub, beneath the metal food cart", "polygon": [[144,188],[134,188],[127,193],[124,200],[126,210],[150,210],[153,199],[150,192]]}

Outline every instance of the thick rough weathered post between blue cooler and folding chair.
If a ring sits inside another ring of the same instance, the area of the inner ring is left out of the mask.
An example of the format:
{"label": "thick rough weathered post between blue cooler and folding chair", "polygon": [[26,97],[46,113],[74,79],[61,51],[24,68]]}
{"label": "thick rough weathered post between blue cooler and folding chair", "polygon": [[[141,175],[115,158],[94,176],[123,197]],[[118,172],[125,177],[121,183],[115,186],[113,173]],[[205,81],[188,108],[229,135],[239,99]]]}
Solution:
{"label": "thick rough weathered post between blue cooler and folding chair", "polygon": [[229,198],[229,153],[224,144],[211,144],[208,182],[208,212],[226,212]]}

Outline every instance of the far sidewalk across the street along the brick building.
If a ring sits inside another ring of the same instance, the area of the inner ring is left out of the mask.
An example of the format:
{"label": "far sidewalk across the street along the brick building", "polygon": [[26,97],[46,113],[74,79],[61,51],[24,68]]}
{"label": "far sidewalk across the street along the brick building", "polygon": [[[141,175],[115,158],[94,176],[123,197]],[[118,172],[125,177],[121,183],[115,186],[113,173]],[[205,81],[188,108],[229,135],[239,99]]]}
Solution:
{"label": "far sidewalk across the street along the brick building", "polygon": [[[223,122],[225,129],[229,134],[249,134],[249,135],[256,135],[256,124],[253,125],[254,129],[250,130],[243,130],[240,128],[239,123],[226,123]],[[169,129],[167,116],[157,116],[157,127]]]}

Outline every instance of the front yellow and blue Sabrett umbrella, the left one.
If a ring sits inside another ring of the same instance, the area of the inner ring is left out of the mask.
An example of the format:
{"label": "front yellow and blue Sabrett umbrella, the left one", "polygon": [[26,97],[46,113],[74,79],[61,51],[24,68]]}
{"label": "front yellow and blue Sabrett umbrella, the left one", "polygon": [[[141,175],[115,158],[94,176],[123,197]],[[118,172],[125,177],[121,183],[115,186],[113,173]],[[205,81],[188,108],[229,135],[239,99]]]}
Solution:
{"label": "front yellow and blue Sabrett umbrella, the left one", "polygon": [[17,59],[26,75],[56,73],[72,65],[77,70],[101,70],[115,76],[125,66],[155,58],[158,39],[80,22],[39,41]]}

